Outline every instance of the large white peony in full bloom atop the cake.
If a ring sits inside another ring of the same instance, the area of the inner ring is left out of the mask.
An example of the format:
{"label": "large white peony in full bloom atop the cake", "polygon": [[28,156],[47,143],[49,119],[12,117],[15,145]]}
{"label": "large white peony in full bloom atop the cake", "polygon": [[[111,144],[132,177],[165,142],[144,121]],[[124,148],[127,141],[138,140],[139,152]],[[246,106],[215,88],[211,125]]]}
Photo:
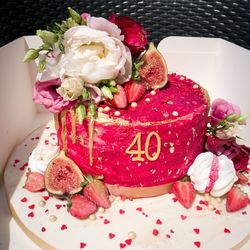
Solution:
{"label": "large white peony in full bloom atop the cake", "polygon": [[64,34],[65,54],[53,69],[61,80],[81,78],[96,84],[103,79],[129,80],[132,58],[128,48],[105,31],[88,26],[75,26]]}

